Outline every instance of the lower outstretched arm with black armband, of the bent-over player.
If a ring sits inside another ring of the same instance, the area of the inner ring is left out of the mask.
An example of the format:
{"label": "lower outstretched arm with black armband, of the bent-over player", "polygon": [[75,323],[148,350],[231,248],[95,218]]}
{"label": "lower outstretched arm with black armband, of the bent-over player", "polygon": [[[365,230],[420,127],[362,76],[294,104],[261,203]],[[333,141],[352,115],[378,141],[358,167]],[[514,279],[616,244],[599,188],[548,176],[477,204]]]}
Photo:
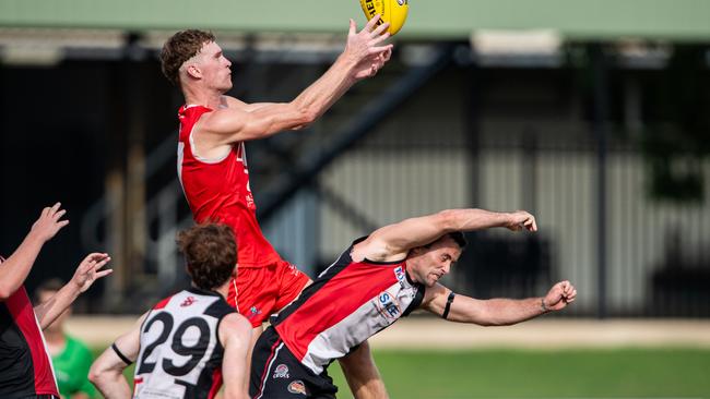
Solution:
{"label": "lower outstretched arm with black armband, of the bent-over player", "polygon": [[[565,280],[554,285],[542,298],[477,300],[455,294],[452,301],[449,301],[450,294],[451,290],[437,283],[427,289],[422,307],[438,316],[446,314],[446,318],[451,322],[508,326],[548,312],[561,311],[575,301],[577,290]],[[450,302],[448,313],[447,302]]]}

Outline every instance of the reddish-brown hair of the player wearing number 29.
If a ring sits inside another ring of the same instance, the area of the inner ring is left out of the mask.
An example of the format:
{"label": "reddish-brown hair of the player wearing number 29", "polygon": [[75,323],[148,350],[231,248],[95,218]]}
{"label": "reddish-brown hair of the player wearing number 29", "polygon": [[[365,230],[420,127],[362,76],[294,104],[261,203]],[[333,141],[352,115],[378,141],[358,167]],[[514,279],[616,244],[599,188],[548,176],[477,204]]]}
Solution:
{"label": "reddish-brown hair of the player wearing number 29", "polygon": [[177,243],[192,282],[200,289],[224,285],[237,266],[237,243],[226,225],[204,223],[182,230]]}

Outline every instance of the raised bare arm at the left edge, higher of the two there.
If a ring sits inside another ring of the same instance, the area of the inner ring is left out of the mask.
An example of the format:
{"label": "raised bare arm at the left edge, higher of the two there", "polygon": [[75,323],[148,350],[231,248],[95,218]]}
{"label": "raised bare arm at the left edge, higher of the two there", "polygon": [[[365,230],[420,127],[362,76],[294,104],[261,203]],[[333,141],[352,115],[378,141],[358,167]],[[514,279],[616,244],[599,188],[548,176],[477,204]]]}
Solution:
{"label": "raised bare arm at the left edge, higher of the two there", "polygon": [[45,242],[69,225],[69,220],[61,220],[67,210],[60,207],[61,204],[56,203],[44,208],[20,246],[0,266],[0,301],[5,301],[25,282]]}

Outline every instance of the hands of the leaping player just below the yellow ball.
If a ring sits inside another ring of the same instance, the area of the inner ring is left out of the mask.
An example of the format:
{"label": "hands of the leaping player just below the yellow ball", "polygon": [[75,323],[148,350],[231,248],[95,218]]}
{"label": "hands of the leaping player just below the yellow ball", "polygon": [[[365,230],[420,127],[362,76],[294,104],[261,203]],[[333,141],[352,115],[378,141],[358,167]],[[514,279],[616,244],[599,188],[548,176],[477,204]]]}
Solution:
{"label": "hands of the leaping player just below the yellow ball", "polygon": [[390,24],[386,22],[377,26],[379,20],[380,15],[375,15],[360,32],[357,32],[355,21],[350,20],[347,45],[343,55],[355,62],[353,73],[356,80],[374,76],[392,56],[393,46],[381,45],[390,37],[389,32],[386,32]]}

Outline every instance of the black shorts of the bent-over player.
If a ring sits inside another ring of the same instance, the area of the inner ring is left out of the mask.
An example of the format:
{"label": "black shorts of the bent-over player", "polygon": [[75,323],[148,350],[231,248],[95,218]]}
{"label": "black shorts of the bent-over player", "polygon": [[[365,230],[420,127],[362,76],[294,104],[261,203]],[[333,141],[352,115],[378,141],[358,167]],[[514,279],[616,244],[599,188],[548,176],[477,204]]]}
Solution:
{"label": "black shorts of the bent-over player", "polygon": [[338,387],[328,372],[318,375],[300,363],[273,327],[259,337],[251,355],[249,396],[253,399],[334,399]]}

